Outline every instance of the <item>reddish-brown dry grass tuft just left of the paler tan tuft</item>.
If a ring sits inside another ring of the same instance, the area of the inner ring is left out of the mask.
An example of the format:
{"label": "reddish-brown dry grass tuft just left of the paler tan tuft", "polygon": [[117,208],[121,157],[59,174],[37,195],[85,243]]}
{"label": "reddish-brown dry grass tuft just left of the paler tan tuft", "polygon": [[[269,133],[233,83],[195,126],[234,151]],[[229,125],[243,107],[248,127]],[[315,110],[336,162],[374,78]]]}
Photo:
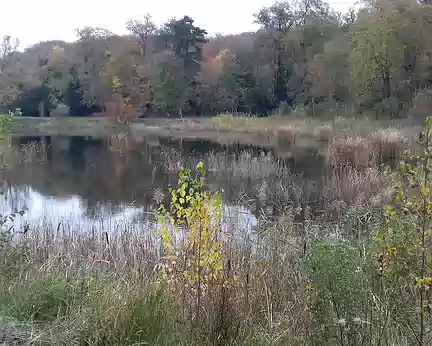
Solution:
{"label": "reddish-brown dry grass tuft just left of the paler tan tuft", "polygon": [[368,167],[372,147],[363,138],[332,141],[326,149],[327,162],[334,167]]}

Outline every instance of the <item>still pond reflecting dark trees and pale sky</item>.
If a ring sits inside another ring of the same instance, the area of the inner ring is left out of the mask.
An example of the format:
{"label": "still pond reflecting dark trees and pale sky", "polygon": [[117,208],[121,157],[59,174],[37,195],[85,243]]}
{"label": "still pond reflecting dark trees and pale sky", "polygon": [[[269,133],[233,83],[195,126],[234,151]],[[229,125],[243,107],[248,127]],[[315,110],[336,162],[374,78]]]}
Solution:
{"label": "still pond reflecting dark trees and pale sky", "polygon": [[15,231],[151,230],[181,167],[203,161],[224,196],[225,223],[251,230],[287,209],[320,207],[326,166],[317,147],[263,149],[170,138],[20,137],[6,162],[0,211]]}

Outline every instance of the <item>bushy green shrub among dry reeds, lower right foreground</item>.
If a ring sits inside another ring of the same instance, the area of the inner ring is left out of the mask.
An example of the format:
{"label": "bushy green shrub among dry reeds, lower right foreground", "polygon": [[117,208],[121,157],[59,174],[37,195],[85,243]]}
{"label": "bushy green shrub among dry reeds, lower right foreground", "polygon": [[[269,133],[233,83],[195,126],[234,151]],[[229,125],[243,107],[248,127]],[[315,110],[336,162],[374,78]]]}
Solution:
{"label": "bushy green shrub among dry reeds, lower right foreground", "polygon": [[314,344],[348,345],[359,341],[370,299],[364,269],[353,246],[331,242],[313,245],[307,272]]}

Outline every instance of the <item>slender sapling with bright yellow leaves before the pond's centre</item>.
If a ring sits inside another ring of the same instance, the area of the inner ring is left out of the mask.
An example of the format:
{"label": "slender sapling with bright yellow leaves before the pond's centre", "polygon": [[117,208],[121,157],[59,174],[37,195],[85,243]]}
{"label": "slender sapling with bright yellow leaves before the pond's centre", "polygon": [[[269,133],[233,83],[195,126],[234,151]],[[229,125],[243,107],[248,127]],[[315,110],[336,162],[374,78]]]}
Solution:
{"label": "slender sapling with bright yellow leaves before the pond's centre", "polygon": [[203,163],[182,169],[177,186],[170,188],[169,206],[159,209],[158,223],[163,252],[164,280],[199,316],[202,299],[223,279],[222,196],[205,186]]}

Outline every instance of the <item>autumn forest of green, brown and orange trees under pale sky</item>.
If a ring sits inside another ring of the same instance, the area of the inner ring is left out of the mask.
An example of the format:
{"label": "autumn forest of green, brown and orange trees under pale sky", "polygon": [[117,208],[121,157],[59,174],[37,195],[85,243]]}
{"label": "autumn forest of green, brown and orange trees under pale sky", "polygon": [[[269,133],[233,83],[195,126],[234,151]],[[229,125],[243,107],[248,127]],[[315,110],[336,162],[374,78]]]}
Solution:
{"label": "autumn forest of green, brown and orange trees under pale sky", "polygon": [[[424,114],[432,105],[430,0],[368,0],[341,14],[323,0],[279,1],[257,32],[209,37],[188,16],[129,34],[0,45],[0,110],[25,116]],[[427,114],[425,114],[427,115]]]}

